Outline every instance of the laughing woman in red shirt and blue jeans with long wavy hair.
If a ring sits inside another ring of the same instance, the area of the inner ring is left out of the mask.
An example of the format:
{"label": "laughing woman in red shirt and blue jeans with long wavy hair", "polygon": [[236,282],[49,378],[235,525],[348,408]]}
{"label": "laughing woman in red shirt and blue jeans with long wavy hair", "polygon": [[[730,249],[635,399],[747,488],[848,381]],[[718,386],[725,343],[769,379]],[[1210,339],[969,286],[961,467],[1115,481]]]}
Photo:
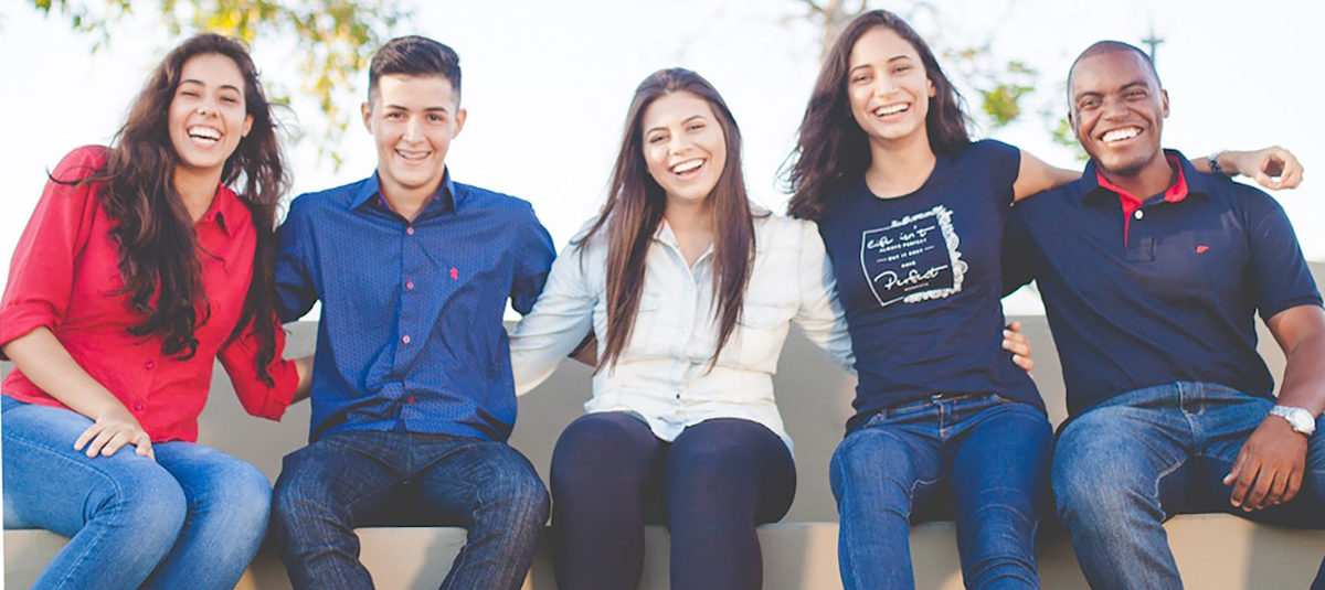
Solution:
{"label": "laughing woman in red shirt and blue jeans with long wavy hair", "polygon": [[195,441],[213,358],[254,415],[307,389],[273,308],[286,187],[253,62],[216,34],[50,173],[0,299],[4,524],[72,537],[37,587],[229,589],[252,561],[270,484]]}

